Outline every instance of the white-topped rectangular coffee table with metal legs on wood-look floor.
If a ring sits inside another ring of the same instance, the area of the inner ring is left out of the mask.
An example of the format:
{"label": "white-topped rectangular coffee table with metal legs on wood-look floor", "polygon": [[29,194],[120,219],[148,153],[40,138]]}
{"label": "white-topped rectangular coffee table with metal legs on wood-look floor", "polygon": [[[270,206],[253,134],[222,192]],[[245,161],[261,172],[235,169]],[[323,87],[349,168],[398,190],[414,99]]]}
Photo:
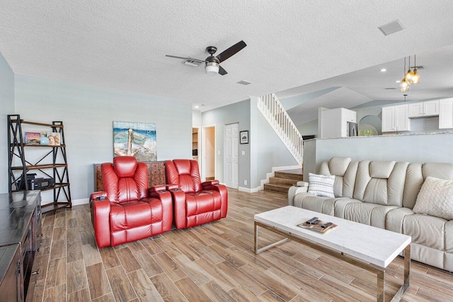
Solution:
{"label": "white-topped rectangular coffee table with metal legs on wood-look floor", "polygon": [[[321,221],[333,222],[338,227],[321,234],[297,226],[314,216],[319,217]],[[258,226],[286,238],[258,248]],[[384,274],[386,267],[404,251],[404,282],[392,301],[399,301],[406,294],[411,269],[410,236],[292,206],[255,215],[254,248],[256,254],[273,248],[288,238],[377,274],[377,301],[384,301],[385,298]]]}

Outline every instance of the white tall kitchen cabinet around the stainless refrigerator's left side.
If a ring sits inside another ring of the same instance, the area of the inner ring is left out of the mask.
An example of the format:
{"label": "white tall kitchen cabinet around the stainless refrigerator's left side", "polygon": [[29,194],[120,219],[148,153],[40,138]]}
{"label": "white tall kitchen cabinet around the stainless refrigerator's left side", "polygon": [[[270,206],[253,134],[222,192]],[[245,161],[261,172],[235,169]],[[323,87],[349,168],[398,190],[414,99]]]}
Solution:
{"label": "white tall kitchen cabinet around the stainless refrigerator's left side", "polygon": [[357,122],[357,112],[346,108],[321,111],[321,138],[348,137],[348,122]]}

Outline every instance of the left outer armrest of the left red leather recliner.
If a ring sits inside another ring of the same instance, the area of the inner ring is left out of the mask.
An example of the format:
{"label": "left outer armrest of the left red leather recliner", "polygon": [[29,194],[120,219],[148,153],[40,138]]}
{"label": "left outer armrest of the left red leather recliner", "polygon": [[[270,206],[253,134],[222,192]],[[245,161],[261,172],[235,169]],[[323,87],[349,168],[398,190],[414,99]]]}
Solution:
{"label": "left outer armrest of the left red leather recliner", "polygon": [[[97,195],[91,194],[96,197]],[[99,197],[104,199],[99,199]],[[111,245],[110,243],[110,200],[99,195],[96,199],[90,199],[91,220],[93,222],[94,238],[98,248]]]}

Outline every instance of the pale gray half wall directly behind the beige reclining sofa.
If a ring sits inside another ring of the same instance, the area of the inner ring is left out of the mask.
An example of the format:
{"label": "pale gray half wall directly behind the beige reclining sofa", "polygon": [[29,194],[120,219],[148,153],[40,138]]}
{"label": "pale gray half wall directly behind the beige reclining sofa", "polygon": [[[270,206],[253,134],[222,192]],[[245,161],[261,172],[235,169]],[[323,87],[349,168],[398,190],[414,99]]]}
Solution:
{"label": "pale gray half wall directly behind the beige reclining sofa", "polygon": [[304,179],[333,156],[354,161],[453,163],[453,133],[311,139],[304,142]]}

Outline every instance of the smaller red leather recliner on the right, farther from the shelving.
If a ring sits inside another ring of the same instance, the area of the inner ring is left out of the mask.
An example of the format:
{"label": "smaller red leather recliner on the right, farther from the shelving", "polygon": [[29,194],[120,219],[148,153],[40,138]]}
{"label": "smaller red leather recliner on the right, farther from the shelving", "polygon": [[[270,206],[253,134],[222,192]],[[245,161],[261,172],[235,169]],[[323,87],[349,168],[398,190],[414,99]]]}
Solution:
{"label": "smaller red leather recliner on the right, farther from the shelving", "polygon": [[219,220],[228,210],[228,191],[218,180],[201,182],[197,161],[165,162],[168,186],[173,197],[176,228],[190,228]]}

